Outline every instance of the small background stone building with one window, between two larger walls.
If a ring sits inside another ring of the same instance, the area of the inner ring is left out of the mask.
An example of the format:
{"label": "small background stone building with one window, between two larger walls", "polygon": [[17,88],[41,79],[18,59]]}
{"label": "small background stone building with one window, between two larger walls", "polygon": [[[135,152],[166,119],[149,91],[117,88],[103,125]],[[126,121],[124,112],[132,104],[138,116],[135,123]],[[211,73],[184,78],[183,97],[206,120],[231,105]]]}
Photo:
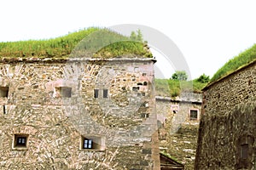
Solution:
{"label": "small background stone building with one window, between two larger walls", "polygon": [[156,111],[160,151],[181,162],[184,169],[193,169],[201,94],[182,93],[176,99],[156,96]]}

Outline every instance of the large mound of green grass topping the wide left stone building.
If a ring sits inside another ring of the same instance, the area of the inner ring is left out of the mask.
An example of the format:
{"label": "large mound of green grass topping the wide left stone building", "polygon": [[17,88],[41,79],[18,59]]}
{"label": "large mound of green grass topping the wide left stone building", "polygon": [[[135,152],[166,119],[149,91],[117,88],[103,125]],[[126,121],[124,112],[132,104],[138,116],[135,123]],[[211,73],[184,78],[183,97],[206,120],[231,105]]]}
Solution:
{"label": "large mound of green grass topping the wide left stone building", "polygon": [[0,42],[0,58],[63,59],[70,57],[71,54],[90,54],[90,57],[106,58],[125,54],[152,57],[145,43],[133,42],[129,37],[96,27],[48,40]]}

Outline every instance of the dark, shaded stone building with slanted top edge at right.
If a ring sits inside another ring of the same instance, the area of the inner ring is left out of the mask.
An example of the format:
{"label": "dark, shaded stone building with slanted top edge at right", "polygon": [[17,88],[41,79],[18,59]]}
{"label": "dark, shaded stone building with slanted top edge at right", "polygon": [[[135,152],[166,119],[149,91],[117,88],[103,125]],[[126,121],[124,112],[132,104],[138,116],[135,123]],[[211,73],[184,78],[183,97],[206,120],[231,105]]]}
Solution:
{"label": "dark, shaded stone building with slanted top edge at right", "polygon": [[203,89],[195,169],[256,168],[256,60]]}

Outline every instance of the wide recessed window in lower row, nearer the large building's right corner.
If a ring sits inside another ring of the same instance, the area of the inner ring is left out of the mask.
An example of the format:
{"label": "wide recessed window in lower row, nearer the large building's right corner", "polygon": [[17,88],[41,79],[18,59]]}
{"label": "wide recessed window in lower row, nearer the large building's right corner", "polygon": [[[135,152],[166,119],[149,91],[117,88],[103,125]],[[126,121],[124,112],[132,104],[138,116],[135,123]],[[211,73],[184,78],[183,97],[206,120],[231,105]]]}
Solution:
{"label": "wide recessed window in lower row, nearer the large building's right corner", "polygon": [[98,136],[81,136],[81,150],[105,150],[104,138]]}

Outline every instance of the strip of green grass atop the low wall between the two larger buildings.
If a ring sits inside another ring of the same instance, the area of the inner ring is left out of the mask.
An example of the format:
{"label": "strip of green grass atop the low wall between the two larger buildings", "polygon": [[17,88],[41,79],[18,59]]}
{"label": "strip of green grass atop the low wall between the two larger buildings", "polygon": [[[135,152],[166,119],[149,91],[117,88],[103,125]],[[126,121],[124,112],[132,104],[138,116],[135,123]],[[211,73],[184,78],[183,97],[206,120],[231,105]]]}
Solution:
{"label": "strip of green grass atop the low wall between the two larger buildings", "polygon": [[193,81],[178,81],[173,79],[155,79],[155,95],[166,97],[177,97],[183,92],[201,93],[201,89],[207,82],[201,83],[196,79]]}

